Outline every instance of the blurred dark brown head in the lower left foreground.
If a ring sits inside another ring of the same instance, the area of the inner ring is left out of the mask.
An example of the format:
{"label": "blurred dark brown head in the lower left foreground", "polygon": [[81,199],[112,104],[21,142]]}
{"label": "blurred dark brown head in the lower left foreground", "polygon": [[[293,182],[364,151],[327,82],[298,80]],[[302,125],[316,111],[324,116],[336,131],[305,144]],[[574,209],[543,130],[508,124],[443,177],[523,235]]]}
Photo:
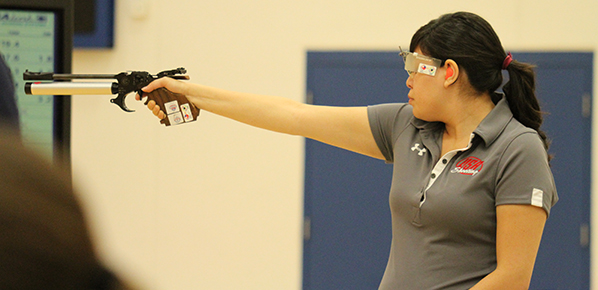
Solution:
{"label": "blurred dark brown head in the lower left foreground", "polygon": [[69,175],[0,128],[0,289],[126,289],[97,258]]}

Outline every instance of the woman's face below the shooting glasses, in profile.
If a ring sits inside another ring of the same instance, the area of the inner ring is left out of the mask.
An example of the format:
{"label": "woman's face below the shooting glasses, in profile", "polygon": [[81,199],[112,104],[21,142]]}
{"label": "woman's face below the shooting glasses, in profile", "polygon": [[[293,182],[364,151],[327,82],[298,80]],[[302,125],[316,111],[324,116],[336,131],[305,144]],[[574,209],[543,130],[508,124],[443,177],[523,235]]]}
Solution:
{"label": "woman's face below the shooting glasses, in profile", "polygon": [[[414,52],[423,54],[419,48]],[[440,69],[440,68],[438,68]],[[407,79],[409,104],[413,106],[413,115],[421,120],[441,121],[443,114],[444,73],[437,72],[434,76],[413,72]]]}

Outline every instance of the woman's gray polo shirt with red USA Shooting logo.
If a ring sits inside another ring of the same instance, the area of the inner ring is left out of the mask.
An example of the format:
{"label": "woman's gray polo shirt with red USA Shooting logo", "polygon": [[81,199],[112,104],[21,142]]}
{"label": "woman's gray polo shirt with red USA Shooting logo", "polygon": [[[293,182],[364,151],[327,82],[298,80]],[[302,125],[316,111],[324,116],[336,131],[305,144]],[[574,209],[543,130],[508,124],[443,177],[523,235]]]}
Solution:
{"label": "woman's gray polo shirt with red USA Shooting logo", "polygon": [[496,206],[547,213],[558,200],[547,153],[503,97],[468,147],[440,156],[444,124],[408,104],[368,108],[387,162],[392,245],[379,289],[468,289],[496,268]]}

